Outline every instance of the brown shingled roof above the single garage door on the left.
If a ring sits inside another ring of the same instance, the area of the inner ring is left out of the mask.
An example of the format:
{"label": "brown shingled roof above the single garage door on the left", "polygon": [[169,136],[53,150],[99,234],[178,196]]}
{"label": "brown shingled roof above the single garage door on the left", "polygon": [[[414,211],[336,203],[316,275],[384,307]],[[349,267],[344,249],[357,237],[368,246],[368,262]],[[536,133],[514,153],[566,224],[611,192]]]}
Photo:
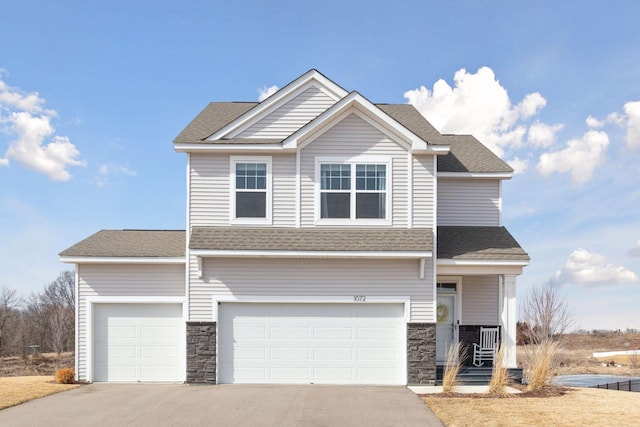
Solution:
{"label": "brown shingled roof above the single garage door on the left", "polygon": [[61,257],[184,257],[186,233],[180,230],[101,230]]}

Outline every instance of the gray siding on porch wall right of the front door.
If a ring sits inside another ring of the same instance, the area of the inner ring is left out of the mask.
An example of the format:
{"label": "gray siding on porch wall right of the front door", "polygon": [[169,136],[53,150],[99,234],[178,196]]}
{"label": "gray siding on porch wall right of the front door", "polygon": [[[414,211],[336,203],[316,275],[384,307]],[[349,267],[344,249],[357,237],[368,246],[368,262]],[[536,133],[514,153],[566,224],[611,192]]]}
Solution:
{"label": "gray siding on porch wall right of the front door", "polygon": [[462,278],[462,324],[499,324],[498,283],[498,276]]}

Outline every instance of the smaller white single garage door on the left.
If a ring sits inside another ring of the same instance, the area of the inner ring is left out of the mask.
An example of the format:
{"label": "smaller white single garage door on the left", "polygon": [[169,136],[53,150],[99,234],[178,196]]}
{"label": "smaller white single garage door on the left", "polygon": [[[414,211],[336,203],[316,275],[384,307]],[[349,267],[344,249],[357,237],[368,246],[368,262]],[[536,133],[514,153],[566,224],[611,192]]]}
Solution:
{"label": "smaller white single garage door on the left", "polygon": [[184,329],[180,304],[95,304],[94,381],[180,381]]}

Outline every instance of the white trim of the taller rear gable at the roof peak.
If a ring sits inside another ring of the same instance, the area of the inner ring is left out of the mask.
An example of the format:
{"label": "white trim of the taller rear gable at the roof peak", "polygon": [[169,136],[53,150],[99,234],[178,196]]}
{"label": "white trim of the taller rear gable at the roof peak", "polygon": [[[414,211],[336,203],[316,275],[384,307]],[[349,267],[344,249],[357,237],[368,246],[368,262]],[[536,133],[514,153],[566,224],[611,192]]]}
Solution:
{"label": "white trim of the taller rear gable at the roof peak", "polygon": [[343,88],[329,80],[319,71],[312,69],[212,135],[209,135],[207,140],[215,141],[222,138],[238,137],[243,131],[256,125],[269,115],[276,113],[283,105],[291,102],[312,88],[322,92],[328,99],[332,99],[334,102],[347,95],[347,91]]}

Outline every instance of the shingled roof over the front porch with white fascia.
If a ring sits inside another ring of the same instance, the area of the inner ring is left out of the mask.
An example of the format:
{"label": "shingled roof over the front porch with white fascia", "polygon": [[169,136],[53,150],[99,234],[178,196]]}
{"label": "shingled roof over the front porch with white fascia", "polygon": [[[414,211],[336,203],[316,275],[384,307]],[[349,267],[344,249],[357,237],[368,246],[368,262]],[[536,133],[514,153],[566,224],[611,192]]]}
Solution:
{"label": "shingled roof over the front porch with white fascia", "polygon": [[438,259],[529,261],[505,227],[438,227]]}

